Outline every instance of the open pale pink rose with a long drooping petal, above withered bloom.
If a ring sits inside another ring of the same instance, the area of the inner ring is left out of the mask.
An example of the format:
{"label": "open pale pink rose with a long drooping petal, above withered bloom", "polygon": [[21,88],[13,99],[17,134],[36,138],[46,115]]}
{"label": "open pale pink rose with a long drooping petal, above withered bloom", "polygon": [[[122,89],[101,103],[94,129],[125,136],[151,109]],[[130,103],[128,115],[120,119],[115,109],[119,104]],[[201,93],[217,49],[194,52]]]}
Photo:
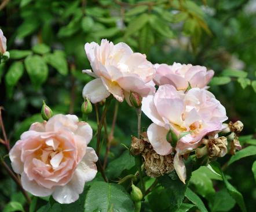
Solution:
{"label": "open pale pink rose with a long drooping petal, above withered bloom", "polygon": [[201,139],[225,128],[227,120],[225,107],[211,92],[192,88],[184,94],[173,85],[160,85],[156,94],[142,99],[142,111],[153,121],[148,127],[148,139],[153,149],[160,155],[173,151],[166,135],[172,129],[181,137],[175,147],[174,168],[185,183],[186,169],[181,157],[201,144]]}

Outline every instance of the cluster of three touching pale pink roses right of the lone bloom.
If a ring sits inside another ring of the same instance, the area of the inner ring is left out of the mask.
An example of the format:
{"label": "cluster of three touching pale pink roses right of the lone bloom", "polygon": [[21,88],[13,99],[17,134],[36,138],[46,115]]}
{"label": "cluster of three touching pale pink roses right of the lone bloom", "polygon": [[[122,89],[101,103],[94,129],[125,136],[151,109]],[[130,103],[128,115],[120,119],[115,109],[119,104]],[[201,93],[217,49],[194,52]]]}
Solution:
{"label": "cluster of three touching pale pink roses right of the lone bloom", "polygon": [[[147,131],[149,142],[160,155],[175,152],[174,168],[185,183],[182,155],[200,146],[204,136],[224,129],[222,122],[228,119],[225,107],[206,90],[214,71],[175,62],[152,65],[127,44],[114,45],[107,40],[101,40],[100,45],[86,43],[85,51],[93,72],[83,72],[96,79],[85,85],[83,97],[96,103],[112,94],[119,102],[125,97],[129,105],[130,91],[143,97],[142,111],[153,121]],[[156,92],[155,84],[159,85]],[[189,132],[175,148],[166,140],[170,129],[177,135]]]}

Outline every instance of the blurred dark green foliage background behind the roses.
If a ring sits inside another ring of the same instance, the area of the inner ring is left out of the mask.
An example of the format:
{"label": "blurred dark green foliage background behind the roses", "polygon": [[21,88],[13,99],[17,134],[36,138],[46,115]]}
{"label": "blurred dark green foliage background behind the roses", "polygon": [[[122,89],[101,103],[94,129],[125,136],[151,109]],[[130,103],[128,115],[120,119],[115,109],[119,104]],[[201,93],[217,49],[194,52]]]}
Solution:
{"label": "blurred dark green foliage background behind the roses", "polygon": [[[225,106],[229,120],[244,123],[243,146],[256,144],[255,0],[3,0],[0,28],[10,52],[9,61],[0,66],[0,105],[5,108],[3,121],[12,145],[32,122],[42,121],[43,100],[54,113],[82,117],[82,89],[92,80],[81,72],[90,69],[84,45],[100,43],[102,38],[126,42],[134,51],[147,54],[153,64],[175,61],[213,69],[215,77],[209,90]],[[124,149],[120,144],[129,146],[137,128],[135,111],[125,102],[112,101],[108,131],[116,107],[109,161]],[[94,113],[89,123],[97,128]],[[143,117],[144,129],[149,123]],[[102,148],[105,153],[105,146]],[[4,156],[3,145],[0,150]],[[255,159],[241,159],[226,170],[243,194],[248,211],[255,211],[256,186],[251,171]],[[24,203],[13,181],[2,169],[0,174],[0,211],[10,200]],[[213,187],[222,193],[218,199],[202,195],[209,211],[240,211],[218,180],[213,181]],[[229,203],[215,207],[214,201]]]}

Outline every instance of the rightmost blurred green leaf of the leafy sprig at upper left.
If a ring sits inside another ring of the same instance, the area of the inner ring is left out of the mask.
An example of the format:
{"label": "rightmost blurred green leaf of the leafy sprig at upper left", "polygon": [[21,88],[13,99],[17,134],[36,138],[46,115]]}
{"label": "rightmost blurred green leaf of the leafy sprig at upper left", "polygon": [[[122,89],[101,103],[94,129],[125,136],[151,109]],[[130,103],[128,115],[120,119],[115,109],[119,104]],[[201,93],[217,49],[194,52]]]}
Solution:
{"label": "rightmost blurred green leaf of the leafy sprig at upper left", "polygon": [[61,75],[68,74],[68,64],[63,51],[56,50],[53,54],[44,55],[43,58],[47,64],[53,66]]}

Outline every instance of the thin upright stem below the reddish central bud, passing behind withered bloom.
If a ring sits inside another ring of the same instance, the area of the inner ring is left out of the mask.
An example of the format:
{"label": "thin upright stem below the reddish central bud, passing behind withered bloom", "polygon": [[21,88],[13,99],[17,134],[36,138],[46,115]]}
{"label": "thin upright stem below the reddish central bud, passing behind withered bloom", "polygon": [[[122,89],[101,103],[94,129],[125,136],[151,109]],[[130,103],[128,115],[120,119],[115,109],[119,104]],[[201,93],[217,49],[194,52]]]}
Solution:
{"label": "thin upright stem below the reddish central bud, passing behind withered bloom", "polygon": [[[136,113],[137,113],[137,125],[138,125],[138,139],[140,139],[141,137],[141,107],[139,107],[138,109],[136,109]],[[141,181],[141,189],[142,189],[142,194],[145,194],[145,184],[144,184],[144,180],[143,180],[143,174],[142,174],[142,170],[141,170],[141,156],[137,155],[135,157],[136,160],[136,166],[138,169],[138,173],[140,176],[140,181]]]}

